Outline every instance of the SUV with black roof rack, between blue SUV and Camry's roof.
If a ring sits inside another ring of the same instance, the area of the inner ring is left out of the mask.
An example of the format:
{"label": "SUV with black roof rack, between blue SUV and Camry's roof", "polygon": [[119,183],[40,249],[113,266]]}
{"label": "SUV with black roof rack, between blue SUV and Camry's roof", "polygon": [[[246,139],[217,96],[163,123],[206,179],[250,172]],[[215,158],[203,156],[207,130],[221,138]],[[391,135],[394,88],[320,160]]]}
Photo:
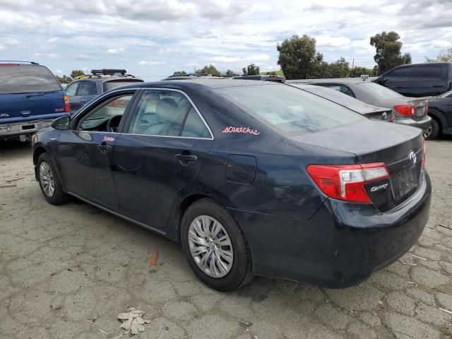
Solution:
{"label": "SUV with black roof rack, between blue SUV and Camry's roof", "polygon": [[91,74],[75,78],[65,89],[71,114],[107,90],[142,82],[140,78],[127,74],[125,69],[93,69]]}

